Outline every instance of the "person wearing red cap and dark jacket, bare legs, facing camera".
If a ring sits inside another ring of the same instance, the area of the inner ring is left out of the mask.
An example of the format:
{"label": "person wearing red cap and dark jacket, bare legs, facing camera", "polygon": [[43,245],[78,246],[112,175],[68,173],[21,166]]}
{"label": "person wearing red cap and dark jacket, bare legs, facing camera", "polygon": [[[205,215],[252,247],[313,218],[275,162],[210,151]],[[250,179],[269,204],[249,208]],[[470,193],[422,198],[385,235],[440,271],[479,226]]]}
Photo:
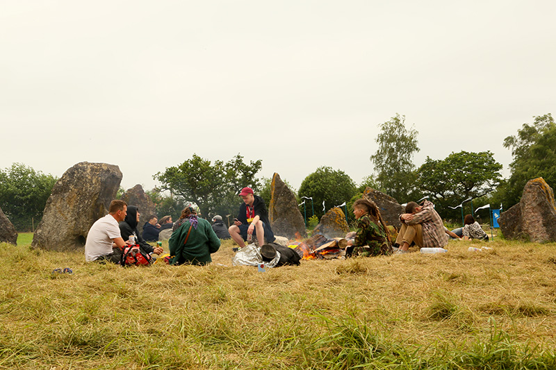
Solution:
{"label": "person wearing red cap and dark jacket, bare legs, facing camera", "polygon": [[243,248],[247,235],[253,235],[253,233],[256,233],[259,245],[265,244],[265,239],[267,243],[274,242],[275,237],[270,228],[265,201],[255,195],[250,187],[244,187],[239,196],[243,199],[243,203],[239,206],[239,215],[234,221],[234,225],[228,229],[234,242]]}

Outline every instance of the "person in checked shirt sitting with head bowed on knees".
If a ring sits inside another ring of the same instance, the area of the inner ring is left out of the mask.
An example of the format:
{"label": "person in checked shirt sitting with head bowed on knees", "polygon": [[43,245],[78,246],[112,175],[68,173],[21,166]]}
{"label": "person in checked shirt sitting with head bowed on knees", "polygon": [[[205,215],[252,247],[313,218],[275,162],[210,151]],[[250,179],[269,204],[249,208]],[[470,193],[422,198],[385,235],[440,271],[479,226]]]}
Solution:
{"label": "person in checked shirt sitting with head bowed on knees", "polygon": [[425,200],[423,205],[409,202],[405,213],[400,215],[402,227],[395,244],[400,246],[398,253],[407,253],[412,242],[419,248],[444,247],[448,244],[448,235],[440,215],[434,210],[434,204]]}

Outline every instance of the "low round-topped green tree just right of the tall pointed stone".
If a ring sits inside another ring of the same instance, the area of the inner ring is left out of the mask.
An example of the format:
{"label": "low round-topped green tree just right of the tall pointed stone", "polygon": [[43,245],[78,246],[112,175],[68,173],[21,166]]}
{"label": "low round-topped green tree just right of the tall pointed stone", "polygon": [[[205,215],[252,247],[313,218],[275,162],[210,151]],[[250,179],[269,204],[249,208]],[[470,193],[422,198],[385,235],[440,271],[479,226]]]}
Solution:
{"label": "low round-topped green tree just right of the tall pointed stone", "polygon": [[[320,218],[334,205],[347,203],[356,192],[355,183],[344,171],[335,171],[332,167],[318,167],[304,178],[297,196],[298,201],[302,196],[312,197],[315,215]],[[322,211],[322,201],[325,202],[325,211]]]}

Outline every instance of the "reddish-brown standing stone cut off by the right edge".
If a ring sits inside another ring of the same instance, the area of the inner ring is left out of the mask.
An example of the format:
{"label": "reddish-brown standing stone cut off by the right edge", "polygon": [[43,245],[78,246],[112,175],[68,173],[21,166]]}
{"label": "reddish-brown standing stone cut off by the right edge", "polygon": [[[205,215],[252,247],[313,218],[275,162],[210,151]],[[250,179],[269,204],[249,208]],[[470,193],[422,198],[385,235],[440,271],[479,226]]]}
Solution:
{"label": "reddish-brown standing stone cut off by the right edge", "polygon": [[519,203],[502,212],[498,224],[506,239],[556,242],[556,202],[552,188],[541,177],[529,180]]}

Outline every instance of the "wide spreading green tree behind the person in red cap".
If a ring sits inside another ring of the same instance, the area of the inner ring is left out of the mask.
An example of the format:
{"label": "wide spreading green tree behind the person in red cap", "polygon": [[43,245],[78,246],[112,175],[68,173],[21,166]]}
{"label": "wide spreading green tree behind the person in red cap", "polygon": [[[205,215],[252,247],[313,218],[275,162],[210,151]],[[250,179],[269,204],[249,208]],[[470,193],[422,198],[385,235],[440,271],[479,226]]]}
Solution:
{"label": "wide spreading green tree behind the person in red cap", "polygon": [[158,172],[154,179],[162,183],[161,190],[170,190],[181,196],[186,202],[199,206],[203,217],[237,212],[239,199],[236,196],[242,187],[250,186],[256,192],[260,182],[255,177],[261,170],[261,160],[243,162],[241,155],[236,155],[229,162],[210,160],[193,154],[177,167],[168,167]]}

